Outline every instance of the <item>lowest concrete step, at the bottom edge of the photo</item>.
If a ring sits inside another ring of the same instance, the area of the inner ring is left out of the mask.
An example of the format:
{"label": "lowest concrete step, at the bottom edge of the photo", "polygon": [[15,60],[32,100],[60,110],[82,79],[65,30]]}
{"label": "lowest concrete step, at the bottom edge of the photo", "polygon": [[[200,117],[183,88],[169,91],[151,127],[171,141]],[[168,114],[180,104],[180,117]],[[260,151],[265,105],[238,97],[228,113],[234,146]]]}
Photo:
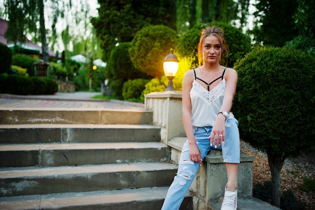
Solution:
{"label": "lowest concrete step, at the bottom edge of the photo", "polygon": [[[160,210],[168,187],[61,193],[0,198],[1,209]],[[186,194],[180,210],[190,209]]]}

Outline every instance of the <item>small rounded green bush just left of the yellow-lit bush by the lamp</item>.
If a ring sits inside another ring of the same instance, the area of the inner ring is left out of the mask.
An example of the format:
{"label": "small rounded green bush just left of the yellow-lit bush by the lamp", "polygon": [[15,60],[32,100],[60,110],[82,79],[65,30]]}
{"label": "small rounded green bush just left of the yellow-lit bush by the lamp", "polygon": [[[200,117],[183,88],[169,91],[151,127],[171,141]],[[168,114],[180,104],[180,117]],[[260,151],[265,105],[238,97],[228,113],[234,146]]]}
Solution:
{"label": "small rounded green bush just left of the yellow-lit bush by the lamp", "polygon": [[140,99],[145,84],[148,82],[149,80],[144,79],[135,79],[125,82],[123,85],[122,96],[125,100]]}

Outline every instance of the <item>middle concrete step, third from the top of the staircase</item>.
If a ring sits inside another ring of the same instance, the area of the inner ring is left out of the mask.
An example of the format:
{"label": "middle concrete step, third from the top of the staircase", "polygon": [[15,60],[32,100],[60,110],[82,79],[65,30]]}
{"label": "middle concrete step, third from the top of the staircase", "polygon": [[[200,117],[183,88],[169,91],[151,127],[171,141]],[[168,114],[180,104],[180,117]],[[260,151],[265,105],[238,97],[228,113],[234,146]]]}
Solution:
{"label": "middle concrete step, third from the top of the staircase", "polygon": [[0,145],[0,167],[77,166],[170,160],[163,143]]}

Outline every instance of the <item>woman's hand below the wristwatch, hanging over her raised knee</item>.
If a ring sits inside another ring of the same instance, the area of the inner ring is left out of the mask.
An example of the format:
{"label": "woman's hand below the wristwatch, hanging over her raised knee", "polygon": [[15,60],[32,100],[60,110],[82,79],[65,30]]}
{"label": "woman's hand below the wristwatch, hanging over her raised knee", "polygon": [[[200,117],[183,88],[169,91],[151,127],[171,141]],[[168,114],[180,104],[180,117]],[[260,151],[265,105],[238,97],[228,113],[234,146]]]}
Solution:
{"label": "woman's hand below the wristwatch, hanging over her raised knee", "polygon": [[218,145],[221,145],[222,142],[224,142],[225,117],[222,114],[217,116],[213,124],[209,138],[210,138],[210,146],[212,147],[212,145],[214,144],[214,148],[217,148]]}

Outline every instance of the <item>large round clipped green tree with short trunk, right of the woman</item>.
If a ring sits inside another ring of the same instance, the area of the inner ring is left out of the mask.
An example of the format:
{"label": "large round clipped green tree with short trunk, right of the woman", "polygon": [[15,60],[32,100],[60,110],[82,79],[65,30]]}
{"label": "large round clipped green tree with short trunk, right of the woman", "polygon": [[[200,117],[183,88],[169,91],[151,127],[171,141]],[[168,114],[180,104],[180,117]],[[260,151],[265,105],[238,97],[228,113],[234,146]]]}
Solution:
{"label": "large round clipped green tree with short trunk, right of the woman", "polygon": [[257,47],[235,63],[239,74],[233,113],[241,139],[267,153],[271,204],[280,206],[286,158],[315,148],[315,58],[296,49]]}

